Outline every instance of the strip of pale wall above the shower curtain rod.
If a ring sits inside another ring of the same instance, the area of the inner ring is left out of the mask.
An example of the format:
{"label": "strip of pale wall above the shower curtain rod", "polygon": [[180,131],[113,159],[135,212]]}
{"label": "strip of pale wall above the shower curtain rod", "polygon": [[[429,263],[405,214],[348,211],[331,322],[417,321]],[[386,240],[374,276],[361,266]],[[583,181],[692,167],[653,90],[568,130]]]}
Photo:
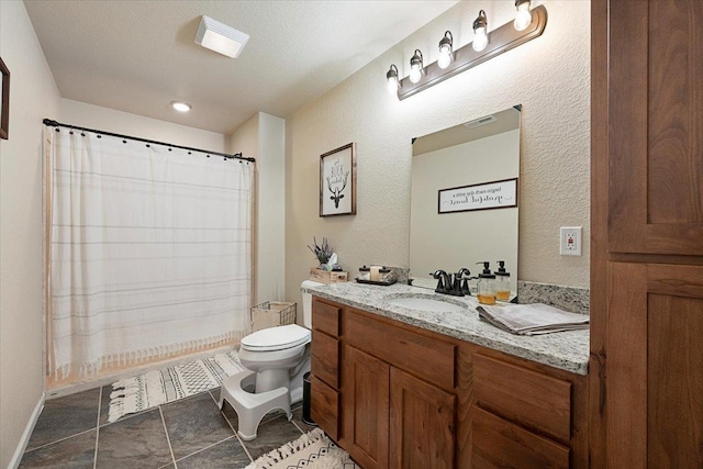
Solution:
{"label": "strip of pale wall above the shower curtain rod", "polygon": [[223,134],[65,98],[62,99],[60,120],[55,118],[51,119],[64,124],[78,125],[174,145],[221,153],[226,149],[227,137]]}

